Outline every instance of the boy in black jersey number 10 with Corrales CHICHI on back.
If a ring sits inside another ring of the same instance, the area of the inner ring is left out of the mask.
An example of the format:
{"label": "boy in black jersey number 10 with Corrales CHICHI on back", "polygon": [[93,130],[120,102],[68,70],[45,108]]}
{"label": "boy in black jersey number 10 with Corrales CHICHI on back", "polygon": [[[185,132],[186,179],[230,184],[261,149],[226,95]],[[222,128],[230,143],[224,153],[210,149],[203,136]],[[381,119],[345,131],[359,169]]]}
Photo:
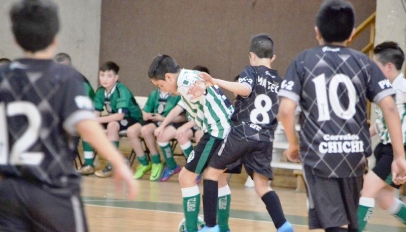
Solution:
{"label": "boy in black jersey number 10 with Corrales CHICHI on back", "polygon": [[[278,118],[289,141],[289,160],[303,163],[309,227],[358,231],[357,208],[366,157],[371,155],[366,100],[382,109],[392,138],[392,172],[404,182],[406,161],[394,91],[365,54],[346,48],[354,33],[353,6],[343,0],[323,2],[317,14],[320,46],[300,53],[281,84]],[[299,104],[300,146],[294,129]],[[348,228],[341,226],[348,225]]]}

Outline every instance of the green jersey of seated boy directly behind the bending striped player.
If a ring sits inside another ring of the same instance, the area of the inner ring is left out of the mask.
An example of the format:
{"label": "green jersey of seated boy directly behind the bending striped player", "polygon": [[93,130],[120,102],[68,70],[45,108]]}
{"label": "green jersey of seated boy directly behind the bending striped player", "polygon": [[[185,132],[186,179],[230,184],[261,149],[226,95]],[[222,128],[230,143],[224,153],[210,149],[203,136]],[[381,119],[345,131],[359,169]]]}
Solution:
{"label": "green jersey of seated boy directly behind the bending striped player", "polygon": [[180,100],[181,96],[170,95],[169,92],[156,89],[149,94],[143,110],[147,113],[160,114],[166,117]]}

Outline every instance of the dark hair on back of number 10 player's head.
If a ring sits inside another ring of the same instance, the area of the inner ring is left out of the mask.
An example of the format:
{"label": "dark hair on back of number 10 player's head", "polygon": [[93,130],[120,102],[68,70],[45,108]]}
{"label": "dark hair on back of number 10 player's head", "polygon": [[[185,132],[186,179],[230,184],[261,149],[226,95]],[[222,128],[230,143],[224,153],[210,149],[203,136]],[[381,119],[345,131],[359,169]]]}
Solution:
{"label": "dark hair on back of number 10 player's head", "polygon": [[316,16],[316,25],[327,43],[343,42],[354,29],[355,10],[344,0],[326,0]]}

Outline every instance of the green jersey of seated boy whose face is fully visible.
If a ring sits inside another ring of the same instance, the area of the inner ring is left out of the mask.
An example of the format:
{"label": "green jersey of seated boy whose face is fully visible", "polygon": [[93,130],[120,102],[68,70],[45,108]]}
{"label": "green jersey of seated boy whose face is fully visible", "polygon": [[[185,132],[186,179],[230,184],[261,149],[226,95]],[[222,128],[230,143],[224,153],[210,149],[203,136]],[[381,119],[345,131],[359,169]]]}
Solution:
{"label": "green jersey of seated boy whose face is fully visible", "polygon": [[136,99],[131,91],[120,82],[116,83],[110,93],[104,87],[99,87],[93,103],[94,109],[97,111],[103,111],[105,106],[109,114],[124,113],[124,118],[132,117],[139,122],[143,121],[143,115]]}

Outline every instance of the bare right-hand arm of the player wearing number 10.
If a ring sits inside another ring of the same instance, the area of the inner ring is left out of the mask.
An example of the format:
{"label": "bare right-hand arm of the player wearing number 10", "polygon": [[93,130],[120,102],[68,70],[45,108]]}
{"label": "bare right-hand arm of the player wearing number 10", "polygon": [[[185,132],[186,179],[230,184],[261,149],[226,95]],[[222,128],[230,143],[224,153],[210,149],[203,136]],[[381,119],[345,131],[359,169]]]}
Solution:
{"label": "bare right-hand arm of the player wearing number 10", "polygon": [[404,148],[402,139],[402,128],[399,113],[392,96],[386,96],[379,102],[393,148],[392,181],[395,184],[406,182],[406,160],[404,158]]}

